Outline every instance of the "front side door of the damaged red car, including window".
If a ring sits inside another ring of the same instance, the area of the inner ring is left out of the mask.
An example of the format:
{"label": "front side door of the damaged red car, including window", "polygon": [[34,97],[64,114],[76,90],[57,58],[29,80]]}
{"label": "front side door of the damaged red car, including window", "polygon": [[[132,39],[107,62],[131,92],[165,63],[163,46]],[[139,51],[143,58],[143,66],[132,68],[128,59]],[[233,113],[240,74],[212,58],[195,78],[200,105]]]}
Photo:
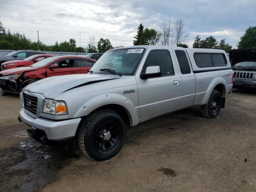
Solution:
{"label": "front side door of the damaged red car, including window", "polygon": [[[55,65],[54,68],[49,68],[52,65]],[[58,62],[50,64],[47,68],[47,77],[56,76],[56,75],[69,75],[80,73],[80,68],[75,59],[62,59]]]}

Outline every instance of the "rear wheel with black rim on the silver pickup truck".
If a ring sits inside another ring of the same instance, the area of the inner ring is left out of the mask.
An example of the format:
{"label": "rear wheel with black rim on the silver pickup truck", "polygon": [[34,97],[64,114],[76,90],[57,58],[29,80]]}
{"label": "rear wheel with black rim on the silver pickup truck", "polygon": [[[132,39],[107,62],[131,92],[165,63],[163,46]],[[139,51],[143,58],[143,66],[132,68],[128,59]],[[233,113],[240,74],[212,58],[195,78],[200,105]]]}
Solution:
{"label": "rear wheel with black rim on the silver pickup truck", "polygon": [[217,90],[213,90],[208,103],[201,105],[202,116],[206,118],[215,118],[220,113],[222,106],[222,96]]}

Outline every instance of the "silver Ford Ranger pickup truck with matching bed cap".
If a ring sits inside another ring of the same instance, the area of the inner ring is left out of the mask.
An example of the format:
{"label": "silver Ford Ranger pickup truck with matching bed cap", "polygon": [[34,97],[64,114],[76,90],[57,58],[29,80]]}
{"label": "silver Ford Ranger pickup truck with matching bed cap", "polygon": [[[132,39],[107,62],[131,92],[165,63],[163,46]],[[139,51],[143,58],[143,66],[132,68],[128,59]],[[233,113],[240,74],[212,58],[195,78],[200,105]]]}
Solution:
{"label": "silver Ford Ranger pickup truck with matching bed cap", "polygon": [[131,46],[109,50],[88,74],[53,76],[20,93],[19,121],[35,140],[78,142],[94,160],[115,156],[126,128],[200,106],[214,118],[232,91],[226,53],[213,49]]}

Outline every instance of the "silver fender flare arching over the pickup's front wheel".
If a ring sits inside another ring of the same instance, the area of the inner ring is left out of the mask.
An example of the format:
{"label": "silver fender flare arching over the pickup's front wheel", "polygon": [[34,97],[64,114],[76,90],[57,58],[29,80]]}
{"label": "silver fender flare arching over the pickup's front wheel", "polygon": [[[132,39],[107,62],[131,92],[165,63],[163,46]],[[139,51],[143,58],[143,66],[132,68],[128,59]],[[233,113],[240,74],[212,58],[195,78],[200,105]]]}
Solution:
{"label": "silver fender flare arching over the pickup's front wheel", "polygon": [[73,118],[87,116],[94,110],[108,104],[117,104],[119,106],[122,106],[128,113],[130,119],[130,126],[135,126],[139,123],[138,112],[133,102],[125,96],[114,93],[102,94],[88,100],[79,108]]}

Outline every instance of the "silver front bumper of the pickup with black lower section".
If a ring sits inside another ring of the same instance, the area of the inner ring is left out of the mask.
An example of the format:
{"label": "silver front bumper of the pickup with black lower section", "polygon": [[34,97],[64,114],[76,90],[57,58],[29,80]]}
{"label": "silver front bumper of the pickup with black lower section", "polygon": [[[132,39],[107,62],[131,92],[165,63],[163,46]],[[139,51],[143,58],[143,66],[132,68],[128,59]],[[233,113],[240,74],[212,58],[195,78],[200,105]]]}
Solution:
{"label": "silver front bumper of the pickup with black lower section", "polygon": [[30,126],[27,130],[28,135],[42,143],[73,138],[81,121],[81,118],[59,121],[42,117],[34,118],[26,113],[24,108],[20,110],[18,119]]}

